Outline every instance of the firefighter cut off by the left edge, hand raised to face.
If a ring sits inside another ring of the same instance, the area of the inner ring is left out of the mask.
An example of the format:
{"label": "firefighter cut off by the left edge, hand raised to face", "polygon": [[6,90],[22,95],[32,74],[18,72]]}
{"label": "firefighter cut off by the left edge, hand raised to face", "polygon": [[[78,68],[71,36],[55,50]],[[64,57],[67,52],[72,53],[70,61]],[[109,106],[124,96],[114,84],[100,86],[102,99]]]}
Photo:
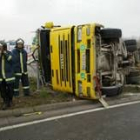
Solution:
{"label": "firefighter cut off by the left edge, hand raised to face", "polygon": [[5,42],[0,42],[0,92],[4,103],[3,110],[12,105],[14,81],[12,53],[7,50]]}

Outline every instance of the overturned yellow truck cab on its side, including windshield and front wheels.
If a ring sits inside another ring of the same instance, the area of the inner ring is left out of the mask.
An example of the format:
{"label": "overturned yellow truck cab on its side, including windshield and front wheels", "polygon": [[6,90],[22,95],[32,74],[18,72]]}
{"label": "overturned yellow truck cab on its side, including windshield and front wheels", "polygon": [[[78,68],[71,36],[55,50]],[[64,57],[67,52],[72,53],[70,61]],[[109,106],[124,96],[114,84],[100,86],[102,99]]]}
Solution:
{"label": "overturned yellow truck cab on its side, including windshield and front wheels", "polygon": [[81,98],[117,95],[124,85],[127,57],[120,29],[100,24],[38,29],[39,62],[46,83],[57,91]]}

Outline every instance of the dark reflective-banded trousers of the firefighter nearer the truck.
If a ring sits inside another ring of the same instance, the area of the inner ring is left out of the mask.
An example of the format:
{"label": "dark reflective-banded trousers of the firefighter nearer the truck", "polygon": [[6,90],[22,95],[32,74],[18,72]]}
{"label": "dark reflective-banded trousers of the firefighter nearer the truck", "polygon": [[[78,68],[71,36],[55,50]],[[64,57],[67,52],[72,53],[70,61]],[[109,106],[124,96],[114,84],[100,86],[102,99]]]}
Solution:
{"label": "dark reflective-banded trousers of the firefighter nearer the truck", "polygon": [[22,83],[24,96],[28,96],[30,94],[28,74],[22,74],[21,76],[16,76],[15,86],[14,86],[14,96],[19,96],[20,81]]}

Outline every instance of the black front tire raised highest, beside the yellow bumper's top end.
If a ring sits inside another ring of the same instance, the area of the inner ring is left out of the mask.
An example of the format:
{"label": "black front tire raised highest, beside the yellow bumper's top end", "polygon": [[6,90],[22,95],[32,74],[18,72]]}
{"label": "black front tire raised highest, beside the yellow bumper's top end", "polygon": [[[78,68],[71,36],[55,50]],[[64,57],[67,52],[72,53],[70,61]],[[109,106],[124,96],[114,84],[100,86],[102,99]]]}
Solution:
{"label": "black front tire raised highest, beside the yellow bumper's top end", "polygon": [[103,39],[118,39],[122,37],[121,29],[106,28],[101,30],[101,37]]}

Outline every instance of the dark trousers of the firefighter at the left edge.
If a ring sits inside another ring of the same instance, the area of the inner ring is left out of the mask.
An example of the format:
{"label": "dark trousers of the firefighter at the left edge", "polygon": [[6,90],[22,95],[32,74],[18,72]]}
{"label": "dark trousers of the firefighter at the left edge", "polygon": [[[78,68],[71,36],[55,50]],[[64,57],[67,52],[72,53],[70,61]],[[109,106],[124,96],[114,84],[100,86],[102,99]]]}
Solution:
{"label": "dark trousers of the firefighter at the left edge", "polygon": [[7,83],[3,80],[0,84],[0,92],[4,103],[10,105],[14,94],[14,83]]}

